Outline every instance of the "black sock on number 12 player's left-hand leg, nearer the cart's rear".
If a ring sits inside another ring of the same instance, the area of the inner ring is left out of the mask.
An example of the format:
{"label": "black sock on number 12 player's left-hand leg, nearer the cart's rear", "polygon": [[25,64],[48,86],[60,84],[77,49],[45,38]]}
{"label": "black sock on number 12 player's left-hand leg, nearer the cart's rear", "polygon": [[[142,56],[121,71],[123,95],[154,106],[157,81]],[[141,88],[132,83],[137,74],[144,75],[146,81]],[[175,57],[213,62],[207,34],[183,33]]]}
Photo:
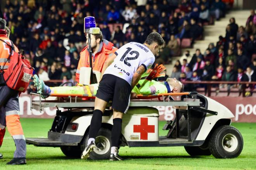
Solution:
{"label": "black sock on number 12 player's left-hand leg, nearer the cart's rear", "polygon": [[101,122],[102,122],[102,111],[101,110],[94,110],[89,130],[89,139],[90,138],[96,138],[100,128],[101,128]]}

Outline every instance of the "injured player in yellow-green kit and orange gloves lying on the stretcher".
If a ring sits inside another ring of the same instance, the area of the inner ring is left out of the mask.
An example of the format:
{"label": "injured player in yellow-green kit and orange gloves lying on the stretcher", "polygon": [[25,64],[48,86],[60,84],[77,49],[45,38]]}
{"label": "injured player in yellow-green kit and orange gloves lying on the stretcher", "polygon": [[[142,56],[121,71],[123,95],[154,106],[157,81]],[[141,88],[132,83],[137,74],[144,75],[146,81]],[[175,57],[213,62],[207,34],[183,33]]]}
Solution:
{"label": "injured player in yellow-green kit and orange gloves lying on the stretcher", "polygon": [[[167,78],[166,82],[157,82],[153,80],[161,76],[161,71],[165,70],[163,65],[156,65],[153,70],[145,73],[144,80],[140,80],[131,91],[136,94],[152,95],[161,93],[179,93],[183,92],[183,84],[176,78]],[[142,76],[143,77],[143,76]],[[51,94],[87,94],[89,96],[96,95],[99,84],[90,84],[74,87],[48,87],[37,75],[34,75],[34,85],[42,98],[47,98]]]}

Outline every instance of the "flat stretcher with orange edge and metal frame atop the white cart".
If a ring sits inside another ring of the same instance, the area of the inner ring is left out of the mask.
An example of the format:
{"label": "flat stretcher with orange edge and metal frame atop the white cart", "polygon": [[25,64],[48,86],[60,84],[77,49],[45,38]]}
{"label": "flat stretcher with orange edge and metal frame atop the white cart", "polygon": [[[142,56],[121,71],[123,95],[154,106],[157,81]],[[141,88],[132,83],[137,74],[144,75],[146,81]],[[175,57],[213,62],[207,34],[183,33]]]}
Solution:
{"label": "flat stretcher with orange edge and metal frame atop the white cart", "polygon": [[[173,100],[172,96],[181,95],[197,95],[197,92],[182,93],[162,93],[154,95],[137,95],[137,99],[131,100],[130,107],[146,107],[146,106],[200,106],[198,99]],[[38,96],[39,100],[33,100],[33,96]],[[51,94],[50,97],[56,97],[55,100],[44,100],[37,93],[30,93],[30,109],[42,112],[45,107],[57,107],[64,109],[75,108],[93,108],[95,95],[88,94]],[[158,100],[152,100],[152,99]],[[149,100],[151,99],[151,100]],[[111,102],[108,104],[111,106]]]}

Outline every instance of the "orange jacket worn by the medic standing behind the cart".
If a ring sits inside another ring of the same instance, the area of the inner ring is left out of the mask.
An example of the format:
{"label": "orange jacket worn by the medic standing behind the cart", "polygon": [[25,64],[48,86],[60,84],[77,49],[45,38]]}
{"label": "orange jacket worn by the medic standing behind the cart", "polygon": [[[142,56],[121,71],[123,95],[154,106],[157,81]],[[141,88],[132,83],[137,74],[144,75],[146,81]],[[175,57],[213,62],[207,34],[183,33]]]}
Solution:
{"label": "orange jacket worn by the medic standing behind the cart", "polygon": [[[102,67],[106,61],[106,59],[111,56],[117,48],[114,47],[112,42],[107,40],[103,40],[100,43],[99,51],[92,56],[92,68],[93,70],[102,71]],[[89,49],[86,46],[80,53],[80,59],[78,63],[78,67],[76,70],[76,81],[79,82],[80,68],[81,67],[90,67],[90,58],[89,58]]]}

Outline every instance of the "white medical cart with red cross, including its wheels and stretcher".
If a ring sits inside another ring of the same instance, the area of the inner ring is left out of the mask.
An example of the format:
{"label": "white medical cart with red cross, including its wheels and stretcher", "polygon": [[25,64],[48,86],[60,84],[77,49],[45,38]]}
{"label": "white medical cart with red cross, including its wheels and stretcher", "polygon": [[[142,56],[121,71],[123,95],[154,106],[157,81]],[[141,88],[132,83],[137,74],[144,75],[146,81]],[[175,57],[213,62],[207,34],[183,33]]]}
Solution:
{"label": "white medical cart with red cross, including its wheels and stretcher", "polygon": [[[173,96],[179,96],[178,100],[173,100]],[[48,137],[26,138],[26,143],[60,147],[66,156],[80,157],[88,141],[95,96],[52,94],[45,100],[31,93],[30,97],[31,109],[42,112],[46,107],[55,107],[57,110]],[[93,160],[110,156],[113,113],[109,106],[111,102],[102,116],[102,127],[95,140],[97,150],[90,153]],[[175,113],[163,115],[157,106],[172,107]],[[160,116],[168,120],[163,126],[165,136],[159,136]],[[137,95],[123,115],[120,146],[184,146],[192,156],[213,154],[216,158],[235,158],[242,151],[243,139],[237,129],[228,126],[233,117],[227,107],[197,92]],[[221,140],[209,140],[216,138]]]}

